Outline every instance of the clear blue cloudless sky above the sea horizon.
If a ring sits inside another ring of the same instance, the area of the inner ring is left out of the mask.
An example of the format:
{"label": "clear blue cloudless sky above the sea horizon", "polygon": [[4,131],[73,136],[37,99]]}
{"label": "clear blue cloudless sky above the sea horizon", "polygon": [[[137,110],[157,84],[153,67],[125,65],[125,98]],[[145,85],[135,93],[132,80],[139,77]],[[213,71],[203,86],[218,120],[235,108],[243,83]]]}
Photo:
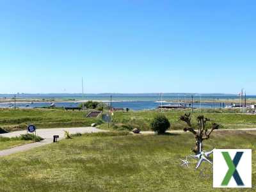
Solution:
{"label": "clear blue cloudless sky above the sea horizon", "polygon": [[256,94],[256,1],[0,1],[0,93]]}

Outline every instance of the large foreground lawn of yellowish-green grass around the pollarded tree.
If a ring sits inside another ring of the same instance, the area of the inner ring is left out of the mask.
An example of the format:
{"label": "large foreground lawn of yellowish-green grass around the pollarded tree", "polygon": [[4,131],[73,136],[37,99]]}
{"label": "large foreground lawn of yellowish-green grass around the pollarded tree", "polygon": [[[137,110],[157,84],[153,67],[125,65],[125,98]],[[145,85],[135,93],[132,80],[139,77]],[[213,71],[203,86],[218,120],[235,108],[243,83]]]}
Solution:
{"label": "large foreground lawn of yellowish-green grass around the pollarded tree", "polygon": [[[179,158],[194,147],[191,133],[118,134],[86,134],[1,157],[0,191],[220,191],[212,189],[211,164],[203,163],[199,170],[195,161],[189,169],[180,166]],[[214,132],[204,147],[252,148],[255,183],[255,136]]]}

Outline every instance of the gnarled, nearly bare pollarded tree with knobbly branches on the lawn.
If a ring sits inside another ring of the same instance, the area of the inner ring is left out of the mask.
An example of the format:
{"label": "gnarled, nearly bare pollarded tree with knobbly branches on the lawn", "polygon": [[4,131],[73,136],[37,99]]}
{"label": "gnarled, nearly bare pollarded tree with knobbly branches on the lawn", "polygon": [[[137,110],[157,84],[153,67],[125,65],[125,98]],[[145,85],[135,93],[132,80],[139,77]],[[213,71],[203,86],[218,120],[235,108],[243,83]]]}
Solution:
{"label": "gnarled, nearly bare pollarded tree with knobbly branches on the lawn", "polygon": [[210,135],[212,131],[215,129],[219,129],[220,125],[212,123],[211,125],[211,131],[208,131],[207,127],[205,127],[206,123],[210,121],[209,118],[205,118],[204,115],[200,115],[197,118],[197,126],[198,131],[195,131],[195,127],[191,124],[191,118],[190,113],[180,116],[180,120],[186,122],[188,127],[184,128],[184,131],[192,132],[195,135],[196,139],[196,147],[193,148],[193,152],[195,154],[199,154],[202,151],[202,141],[208,140],[210,138]]}

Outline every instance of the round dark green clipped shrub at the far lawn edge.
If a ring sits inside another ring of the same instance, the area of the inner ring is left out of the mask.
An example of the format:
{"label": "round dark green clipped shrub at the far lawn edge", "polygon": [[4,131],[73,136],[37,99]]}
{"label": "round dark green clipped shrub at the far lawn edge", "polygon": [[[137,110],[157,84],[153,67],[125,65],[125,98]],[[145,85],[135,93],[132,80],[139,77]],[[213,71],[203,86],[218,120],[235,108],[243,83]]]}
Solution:
{"label": "round dark green clipped shrub at the far lawn edge", "polygon": [[154,117],[152,122],[150,122],[150,127],[152,131],[157,132],[157,134],[163,134],[170,127],[170,122],[168,118],[164,115],[157,115]]}

